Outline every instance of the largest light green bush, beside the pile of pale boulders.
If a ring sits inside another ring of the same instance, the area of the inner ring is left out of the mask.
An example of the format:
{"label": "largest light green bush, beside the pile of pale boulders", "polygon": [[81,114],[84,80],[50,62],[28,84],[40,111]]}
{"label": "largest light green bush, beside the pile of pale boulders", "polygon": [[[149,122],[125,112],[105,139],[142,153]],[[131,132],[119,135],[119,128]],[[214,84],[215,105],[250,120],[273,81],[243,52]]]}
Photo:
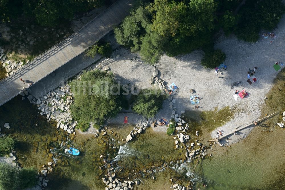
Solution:
{"label": "largest light green bush, beside the pile of pale boulders", "polygon": [[[99,127],[106,118],[115,116],[121,110],[122,101],[125,100],[123,95],[110,93],[111,86],[115,84],[112,73],[98,69],[84,72],[81,80],[71,83],[74,104],[70,106],[70,111],[82,131],[87,130],[89,122]],[[115,89],[113,91],[116,92]]]}

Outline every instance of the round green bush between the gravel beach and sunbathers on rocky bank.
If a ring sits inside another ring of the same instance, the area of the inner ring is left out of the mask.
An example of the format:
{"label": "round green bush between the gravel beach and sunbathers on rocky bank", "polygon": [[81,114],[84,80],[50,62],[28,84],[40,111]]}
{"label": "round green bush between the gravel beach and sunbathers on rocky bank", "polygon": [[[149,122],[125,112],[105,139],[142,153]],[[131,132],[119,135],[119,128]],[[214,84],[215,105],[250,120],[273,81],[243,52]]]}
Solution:
{"label": "round green bush between the gravel beach and sunbathers on rocky bank", "polygon": [[133,111],[142,114],[146,118],[153,118],[160,108],[167,95],[164,91],[158,89],[141,90],[139,95],[135,96]]}

